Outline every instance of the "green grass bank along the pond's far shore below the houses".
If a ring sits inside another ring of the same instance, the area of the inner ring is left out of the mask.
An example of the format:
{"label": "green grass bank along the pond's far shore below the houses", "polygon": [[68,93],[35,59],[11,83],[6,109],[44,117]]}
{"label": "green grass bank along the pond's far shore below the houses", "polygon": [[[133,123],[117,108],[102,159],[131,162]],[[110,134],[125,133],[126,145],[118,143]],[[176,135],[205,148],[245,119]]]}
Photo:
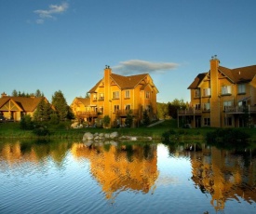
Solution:
{"label": "green grass bank along the pond's far shore below the houses", "polygon": [[[47,137],[38,137],[32,130],[20,129],[19,123],[0,123],[0,139],[2,138],[48,138],[48,139],[79,139],[82,140],[86,132],[91,133],[111,133],[117,131],[119,135],[152,137],[155,140],[161,140],[163,133],[172,131],[172,138],[176,140],[204,140],[208,132],[215,130],[212,127],[201,128],[178,128],[176,120],[166,120],[154,127],[137,127],[137,128],[99,128],[84,127],[70,128],[70,123],[59,125],[46,125],[50,132]],[[241,128],[251,137],[251,141],[256,141],[255,128]]]}

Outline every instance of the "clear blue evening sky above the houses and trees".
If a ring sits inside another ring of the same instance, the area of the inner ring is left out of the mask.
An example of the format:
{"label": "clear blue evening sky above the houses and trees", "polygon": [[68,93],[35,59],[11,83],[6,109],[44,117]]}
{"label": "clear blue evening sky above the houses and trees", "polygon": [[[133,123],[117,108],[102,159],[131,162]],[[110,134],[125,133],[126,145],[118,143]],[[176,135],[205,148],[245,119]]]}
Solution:
{"label": "clear blue evening sky above the houses and trees", "polygon": [[0,0],[0,93],[61,90],[68,104],[103,75],[149,73],[158,102],[187,87],[217,55],[256,64],[255,0]]}

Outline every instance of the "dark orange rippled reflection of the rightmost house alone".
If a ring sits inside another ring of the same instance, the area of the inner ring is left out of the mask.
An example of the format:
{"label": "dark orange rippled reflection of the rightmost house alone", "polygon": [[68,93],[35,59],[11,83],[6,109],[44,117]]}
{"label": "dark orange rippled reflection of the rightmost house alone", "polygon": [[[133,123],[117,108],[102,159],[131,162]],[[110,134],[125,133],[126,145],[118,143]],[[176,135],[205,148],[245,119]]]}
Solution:
{"label": "dark orange rippled reflection of the rightmost house alone", "polygon": [[241,197],[248,203],[256,202],[255,159],[246,166],[242,156],[234,157],[212,147],[204,148],[202,153],[191,153],[191,163],[192,180],[203,193],[211,194],[210,203],[216,211],[222,210],[229,199],[239,201]]}

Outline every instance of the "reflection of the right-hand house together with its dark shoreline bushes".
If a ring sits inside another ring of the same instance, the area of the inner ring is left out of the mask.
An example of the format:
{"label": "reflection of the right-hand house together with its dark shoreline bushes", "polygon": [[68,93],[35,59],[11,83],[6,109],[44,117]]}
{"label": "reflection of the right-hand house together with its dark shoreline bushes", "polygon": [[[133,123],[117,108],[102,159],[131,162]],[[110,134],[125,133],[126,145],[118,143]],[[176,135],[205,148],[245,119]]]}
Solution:
{"label": "reflection of the right-hand house together with its dark shoreline bushes", "polygon": [[[224,148],[226,146],[224,145]],[[219,145],[173,144],[169,154],[189,156],[192,166],[192,181],[203,194],[210,194],[210,204],[216,211],[224,210],[228,200],[249,204],[256,202],[255,150],[249,148],[223,150]]]}

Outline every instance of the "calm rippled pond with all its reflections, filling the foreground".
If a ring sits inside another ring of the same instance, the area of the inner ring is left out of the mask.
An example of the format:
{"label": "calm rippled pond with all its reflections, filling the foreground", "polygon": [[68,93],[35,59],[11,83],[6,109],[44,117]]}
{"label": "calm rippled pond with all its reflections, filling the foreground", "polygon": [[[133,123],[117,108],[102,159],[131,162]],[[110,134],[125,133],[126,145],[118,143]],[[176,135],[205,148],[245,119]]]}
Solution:
{"label": "calm rippled pond with all its reflections, filling the foreground", "polygon": [[0,141],[0,213],[256,213],[254,151],[189,147]]}

